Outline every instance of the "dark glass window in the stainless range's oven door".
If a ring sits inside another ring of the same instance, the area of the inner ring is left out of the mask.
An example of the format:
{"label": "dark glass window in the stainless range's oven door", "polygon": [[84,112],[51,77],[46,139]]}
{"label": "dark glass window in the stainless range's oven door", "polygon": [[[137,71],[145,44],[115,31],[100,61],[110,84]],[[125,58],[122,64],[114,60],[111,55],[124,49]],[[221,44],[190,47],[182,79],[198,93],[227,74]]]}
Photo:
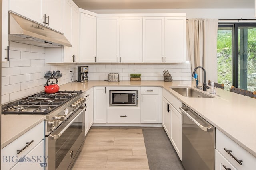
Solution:
{"label": "dark glass window in the stainless range's oven door", "polygon": [[55,143],[55,169],[58,168],[76,139],[82,133],[82,114],[66,129]]}

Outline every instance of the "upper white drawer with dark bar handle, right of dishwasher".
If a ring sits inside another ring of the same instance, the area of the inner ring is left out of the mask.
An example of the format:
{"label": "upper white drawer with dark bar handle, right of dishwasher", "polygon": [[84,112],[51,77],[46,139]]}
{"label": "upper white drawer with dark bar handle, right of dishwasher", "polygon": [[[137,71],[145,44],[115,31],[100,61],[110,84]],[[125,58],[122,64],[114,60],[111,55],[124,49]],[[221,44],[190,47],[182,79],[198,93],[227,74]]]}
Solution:
{"label": "upper white drawer with dark bar handle, right of dishwasher", "polygon": [[[242,160],[240,165],[227,151],[231,150],[236,159]],[[216,149],[238,170],[255,170],[256,157],[227,137],[224,133],[216,129]]]}

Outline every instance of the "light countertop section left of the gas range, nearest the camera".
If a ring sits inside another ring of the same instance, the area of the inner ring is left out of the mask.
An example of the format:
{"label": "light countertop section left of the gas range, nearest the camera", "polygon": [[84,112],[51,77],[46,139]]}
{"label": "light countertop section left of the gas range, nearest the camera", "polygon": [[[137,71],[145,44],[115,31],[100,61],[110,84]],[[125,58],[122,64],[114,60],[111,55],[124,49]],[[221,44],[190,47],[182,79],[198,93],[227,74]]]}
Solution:
{"label": "light countertop section left of the gas range, nearest the camera", "polygon": [[1,149],[44,121],[43,115],[1,115]]}

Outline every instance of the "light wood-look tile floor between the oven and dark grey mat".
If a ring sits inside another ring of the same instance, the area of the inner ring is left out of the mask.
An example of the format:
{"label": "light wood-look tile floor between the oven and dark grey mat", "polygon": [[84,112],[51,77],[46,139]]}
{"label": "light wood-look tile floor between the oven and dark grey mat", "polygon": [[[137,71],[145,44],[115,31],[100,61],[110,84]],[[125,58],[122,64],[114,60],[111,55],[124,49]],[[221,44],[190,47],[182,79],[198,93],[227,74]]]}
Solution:
{"label": "light wood-look tile floor between the oven and dark grey mat", "polygon": [[149,170],[140,127],[92,127],[72,170]]}

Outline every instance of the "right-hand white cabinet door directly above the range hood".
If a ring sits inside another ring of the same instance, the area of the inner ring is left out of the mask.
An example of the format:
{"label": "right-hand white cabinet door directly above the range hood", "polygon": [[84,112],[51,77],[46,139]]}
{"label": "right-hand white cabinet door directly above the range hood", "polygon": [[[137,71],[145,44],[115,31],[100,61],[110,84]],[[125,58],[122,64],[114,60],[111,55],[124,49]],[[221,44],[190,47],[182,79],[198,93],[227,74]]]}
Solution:
{"label": "right-hand white cabinet door directly above the range hood", "polygon": [[61,33],[63,33],[63,3],[63,0],[45,0],[45,14],[49,16],[46,25]]}

